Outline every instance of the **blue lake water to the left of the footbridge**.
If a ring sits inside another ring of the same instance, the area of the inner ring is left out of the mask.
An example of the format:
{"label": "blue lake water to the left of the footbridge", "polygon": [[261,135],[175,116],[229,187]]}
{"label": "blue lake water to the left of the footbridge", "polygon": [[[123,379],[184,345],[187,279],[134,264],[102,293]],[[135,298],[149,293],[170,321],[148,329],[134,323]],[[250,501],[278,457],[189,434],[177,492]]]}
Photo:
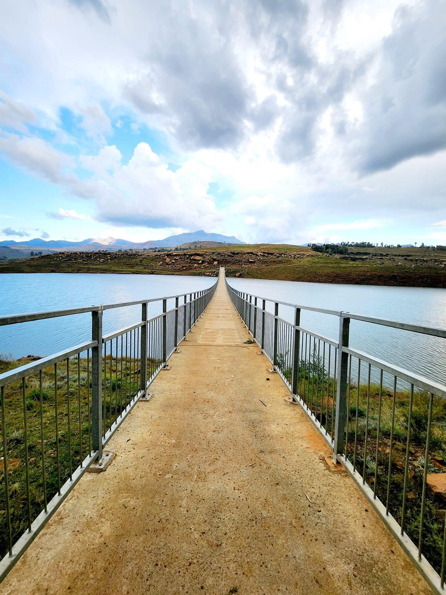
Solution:
{"label": "blue lake water to the left of the footbridge", "polygon": [[[180,275],[0,274],[0,316],[152,299],[196,292],[213,283],[212,277]],[[168,300],[167,308],[173,306],[174,300]],[[161,311],[161,303],[149,305],[149,317]],[[139,320],[140,306],[105,311],[103,333]],[[0,355],[15,359],[25,355],[45,356],[90,338],[89,313],[14,324],[0,327]]]}

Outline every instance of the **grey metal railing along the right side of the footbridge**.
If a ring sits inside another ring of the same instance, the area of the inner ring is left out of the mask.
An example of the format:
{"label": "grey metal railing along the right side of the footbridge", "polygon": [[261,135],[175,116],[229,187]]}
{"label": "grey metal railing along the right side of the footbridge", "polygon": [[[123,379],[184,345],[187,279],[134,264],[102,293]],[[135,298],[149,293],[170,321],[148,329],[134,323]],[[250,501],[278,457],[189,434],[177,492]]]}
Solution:
{"label": "grey metal railing along the right side of the footbridge", "polygon": [[[446,386],[351,349],[349,339],[351,320],[442,339],[446,330],[275,302],[228,283],[227,289],[334,461],[346,468],[431,586],[445,593]],[[279,316],[283,306],[293,308],[293,322]],[[338,338],[301,326],[302,310],[337,317]]]}

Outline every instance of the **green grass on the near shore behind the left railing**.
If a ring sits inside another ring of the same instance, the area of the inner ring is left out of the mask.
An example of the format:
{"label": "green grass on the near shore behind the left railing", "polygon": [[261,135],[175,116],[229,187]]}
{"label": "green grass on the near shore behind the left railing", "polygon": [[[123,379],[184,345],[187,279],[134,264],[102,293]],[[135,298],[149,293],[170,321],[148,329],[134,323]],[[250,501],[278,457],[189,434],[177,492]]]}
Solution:
{"label": "green grass on the near shore behind the left railing", "polygon": [[[149,374],[157,365],[147,360]],[[15,367],[16,362],[0,361],[0,373]],[[102,383],[105,433],[138,392],[140,370],[130,359],[108,355],[103,359]],[[32,374],[24,383],[15,381],[5,387],[6,444],[3,436],[0,440],[2,455],[6,448],[8,456],[12,543],[27,529],[28,516],[33,521],[43,510],[45,491],[49,502],[92,449],[91,399],[91,361],[77,356],[69,360],[68,366],[66,362],[58,365],[56,381],[54,367],[49,367],[42,370],[41,378]],[[4,556],[8,524],[3,461],[0,474],[0,556]]]}

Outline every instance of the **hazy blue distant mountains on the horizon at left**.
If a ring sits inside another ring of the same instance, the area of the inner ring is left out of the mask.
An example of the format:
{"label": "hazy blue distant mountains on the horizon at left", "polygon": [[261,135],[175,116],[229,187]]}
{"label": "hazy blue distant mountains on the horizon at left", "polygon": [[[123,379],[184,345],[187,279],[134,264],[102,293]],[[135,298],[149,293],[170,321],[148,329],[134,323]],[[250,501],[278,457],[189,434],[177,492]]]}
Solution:
{"label": "hazy blue distant mountains on the horizon at left", "polygon": [[219,233],[206,233],[200,229],[190,233],[180,233],[177,236],[165,237],[163,240],[149,240],[148,242],[129,242],[128,240],[107,237],[103,240],[96,240],[92,237],[81,242],[68,242],[68,240],[42,240],[34,238],[26,242],[15,242],[15,240],[0,240],[0,246],[18,248],[19,246],[32,246],[33,248],[83,248],[84,250],[104,250],[118,248],[175,248],[186,242],[222,242],[227,244],[244,244],[234,236],[222,236]]}

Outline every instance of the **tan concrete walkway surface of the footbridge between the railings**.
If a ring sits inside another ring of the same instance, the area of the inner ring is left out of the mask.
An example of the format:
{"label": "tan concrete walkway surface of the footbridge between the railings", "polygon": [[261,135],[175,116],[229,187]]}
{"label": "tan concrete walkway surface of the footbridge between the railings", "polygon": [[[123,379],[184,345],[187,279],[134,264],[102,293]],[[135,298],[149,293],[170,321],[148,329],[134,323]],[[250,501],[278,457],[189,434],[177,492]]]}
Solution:
{"label": "tan concrete walkway surface of the footbridge between the railings", "polygon": [[82,478],[0,593],[431,593],[319,458],[222,278],[188,339],[109,443],[115,461]]}

